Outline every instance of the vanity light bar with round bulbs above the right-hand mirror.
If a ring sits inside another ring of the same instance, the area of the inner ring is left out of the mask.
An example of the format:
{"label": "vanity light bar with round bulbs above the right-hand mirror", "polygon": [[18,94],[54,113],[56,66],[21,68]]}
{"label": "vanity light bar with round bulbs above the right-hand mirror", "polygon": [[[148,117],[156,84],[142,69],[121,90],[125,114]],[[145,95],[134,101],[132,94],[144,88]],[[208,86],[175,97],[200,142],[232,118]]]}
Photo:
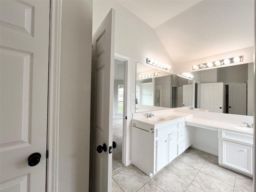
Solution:
{"label": "vanity light bar with round bulbs above the right-hand mirror", "polygon": [[220,66],[220,65],[230,64],[230,63],[238,63],[242,61],[243,61],[243,56],[236,56],[232,58],[226,58],[223,60],[217,60],[215,62],[208,62],[208,63],[199,64],[199,65],[193,65],[192,69],[197,70],[197,69],[215,67],[215,66]]}

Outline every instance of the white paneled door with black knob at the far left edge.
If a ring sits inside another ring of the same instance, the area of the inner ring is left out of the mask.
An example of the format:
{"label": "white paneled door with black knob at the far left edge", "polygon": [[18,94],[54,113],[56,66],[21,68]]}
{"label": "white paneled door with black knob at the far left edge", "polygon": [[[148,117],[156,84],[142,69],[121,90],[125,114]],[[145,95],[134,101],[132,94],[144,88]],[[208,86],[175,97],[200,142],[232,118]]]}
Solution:
{"label": "white paneled door with black knob at the far left edge", "polygon": [[1,0],[0,12],[0,190],[45,192],[50,1]]}

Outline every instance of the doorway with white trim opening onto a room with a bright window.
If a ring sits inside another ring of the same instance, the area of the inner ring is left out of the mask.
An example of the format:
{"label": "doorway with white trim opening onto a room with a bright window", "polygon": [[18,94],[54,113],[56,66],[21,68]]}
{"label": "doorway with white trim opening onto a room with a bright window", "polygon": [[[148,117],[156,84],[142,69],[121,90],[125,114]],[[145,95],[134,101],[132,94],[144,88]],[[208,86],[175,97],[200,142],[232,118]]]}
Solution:
{"label": "doorway with white trim opening onto a room with a bright window", "polygon": [[114,98],[113,98],[113,142],[116,148],[112,150],[112,170],[128,165],[128,95],[130,58],[116,54],[114,58]]}

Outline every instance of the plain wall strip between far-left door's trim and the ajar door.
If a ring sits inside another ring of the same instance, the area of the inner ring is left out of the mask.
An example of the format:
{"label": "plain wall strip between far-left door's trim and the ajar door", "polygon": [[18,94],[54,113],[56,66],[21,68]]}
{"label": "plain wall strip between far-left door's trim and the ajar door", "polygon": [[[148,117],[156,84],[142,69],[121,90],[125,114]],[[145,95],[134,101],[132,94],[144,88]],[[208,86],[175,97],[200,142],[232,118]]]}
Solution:
{"label": "plain wall strip between far-left door's trim and the ajar door", "polygon": [[92,1],[62,1],[58,191],[88,191]]}

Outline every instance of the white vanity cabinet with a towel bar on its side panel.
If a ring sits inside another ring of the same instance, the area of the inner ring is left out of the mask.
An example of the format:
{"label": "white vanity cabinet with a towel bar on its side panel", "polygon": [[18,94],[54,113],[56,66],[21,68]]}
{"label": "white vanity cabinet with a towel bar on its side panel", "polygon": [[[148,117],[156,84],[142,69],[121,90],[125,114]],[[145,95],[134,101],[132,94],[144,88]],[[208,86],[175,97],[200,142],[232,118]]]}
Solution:
{"label": "white vanity cabinet with a towel bar on its side panel", "polygon": [[164,168],[184,152],[184,128],[184,118],[155,125],[132,120],[132,164],[148,176]]}

